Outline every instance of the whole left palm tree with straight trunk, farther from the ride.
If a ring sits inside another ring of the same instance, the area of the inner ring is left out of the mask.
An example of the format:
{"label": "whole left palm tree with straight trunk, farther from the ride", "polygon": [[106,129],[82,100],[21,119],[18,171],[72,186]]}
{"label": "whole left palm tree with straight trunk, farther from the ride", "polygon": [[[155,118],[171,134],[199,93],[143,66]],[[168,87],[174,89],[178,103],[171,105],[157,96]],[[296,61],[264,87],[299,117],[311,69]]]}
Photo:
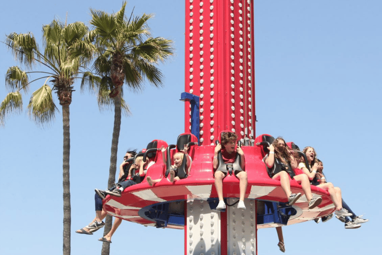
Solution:
{"label": "whole left palm tree with straight trunk, farther from the ride", "polygon": [[[7,35],[5,44],[15,55],[16,59],[27,69],[40,64],[44,71],[23,71],[18,66],[10,67],[5,75],[5,85],[12,90],[0,105],[0,125],[5,124],[5,117],[12,111],[22,110],[21,91],[27,91],[30,85],[43,79],[41,88],[32,93],[27,106],[28,114],[37,124],[49,123],[54,119],[57,107],[53,102],[52,91],[56,91],[62,106],[63,120],[63,200],[64,200],[64,228],[63,254],[70,255],[70,111],[74,79],[78,78],[83,65],[86,65],[93,51],[92,45],[85,43],[88,27],[82,22],[64,25],[58,20],[43,26],[43,51],[36,43],[31,33],[11,33]],[[82,52],[80,57],[73,58],[76,52]],[[29,75],[39,74],[32,81]],[[50,87],[47,82],[52,84]]]}

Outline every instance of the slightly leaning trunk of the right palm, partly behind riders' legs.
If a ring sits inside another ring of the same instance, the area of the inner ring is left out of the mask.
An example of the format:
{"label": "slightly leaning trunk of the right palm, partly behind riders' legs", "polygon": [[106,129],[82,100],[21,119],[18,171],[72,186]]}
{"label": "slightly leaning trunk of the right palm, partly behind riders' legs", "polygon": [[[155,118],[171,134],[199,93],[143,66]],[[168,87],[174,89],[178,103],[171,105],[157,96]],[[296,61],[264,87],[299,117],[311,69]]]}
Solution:
{"label": "slightly leaning trunk of the right palm, partly behind riders' legs", "polygon": [[[118,140],[119,132],[121,129],[121,88],[119,87],[119,93],[114,97],[114,127],[113,127],[113,137],[111,140],[111,154],[110,154],[110,168],[109,168],[109,179],[107,181],[107,186],[111,187],[115,182],[115,172],[117,168],[117,153],[118,153]],[[106,216],[105,227],[103,231],[103,236],[109,233],[111,229],[112,217],[110,215]],[[109,255],[110,253],[110,244],[102,244],[101,255]]]}

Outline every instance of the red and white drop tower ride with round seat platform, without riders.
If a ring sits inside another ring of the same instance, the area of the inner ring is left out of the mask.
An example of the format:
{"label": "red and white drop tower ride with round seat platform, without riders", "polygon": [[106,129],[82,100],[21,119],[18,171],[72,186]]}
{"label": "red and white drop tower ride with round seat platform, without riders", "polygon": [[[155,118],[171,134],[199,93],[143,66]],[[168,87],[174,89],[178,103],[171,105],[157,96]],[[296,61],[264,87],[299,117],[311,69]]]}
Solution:
{"label": "red and white drop tower ride with round seat platform, without riders", "polygon": [[[186,0],[185,133],[177,144],[151,141],[144,158],[155,163],[146,180],[128,187],[121,197],[107,196],[103,209],[112,216],[157,228],[185,231],[185,255],[257,255],[257,230],[312,220],[334,211],[329,193],[311,186],[321,204],[308,209],[305,195],[287,205],[280,181],[267,173],[263,158],[272,136],[255,138],[255,72],[253,0]],[[227,209],[216,211],[212,160],[222,131],[238,134],[245,154],[248,186],[246,210],[237,209],[239,180],[223,179]],[[191,170],[178,169],[181,180],[167,178],[174,153],[189,143]],[[293,143],[289,143],[295,146]],[[166,162],[162,151],[167,150]],[[182,175],[183,173],[183,175]],[[183,177],[183,178],[182,178]],[[304,194],[296,181],[292,193]],[[229,206],[232,205],[232,206]],[[234,206],[235,205],[235,206]]]}

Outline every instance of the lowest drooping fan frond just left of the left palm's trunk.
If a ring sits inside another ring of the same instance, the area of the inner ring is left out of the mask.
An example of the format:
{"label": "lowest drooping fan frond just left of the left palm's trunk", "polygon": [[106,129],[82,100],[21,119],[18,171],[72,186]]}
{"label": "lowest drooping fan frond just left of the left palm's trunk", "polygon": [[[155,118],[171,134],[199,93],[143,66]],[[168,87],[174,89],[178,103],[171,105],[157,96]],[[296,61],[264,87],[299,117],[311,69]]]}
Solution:
{"label": "lowest drooping fan frond just left of the left palm's trunk", "polygon": [[33,92],[27,109],[30,118],[37,124],[50,123],[58,110],[53,102],[52,89],[44,84]]}

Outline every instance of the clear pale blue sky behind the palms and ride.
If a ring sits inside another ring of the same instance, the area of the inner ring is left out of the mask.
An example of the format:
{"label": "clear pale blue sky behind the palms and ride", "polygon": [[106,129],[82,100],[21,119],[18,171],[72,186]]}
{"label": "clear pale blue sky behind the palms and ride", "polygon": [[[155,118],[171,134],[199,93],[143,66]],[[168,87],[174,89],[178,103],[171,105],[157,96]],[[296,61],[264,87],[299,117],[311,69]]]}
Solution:
{"label": "clear pale blue sky behind the palms and ride", "polygon": [[[4,1],[0,40],[31,31],[41,43],[43,24],[54,18],[89,24],[89,8],[109,13],[122,1]],[[127,148],[154,138],[175,142],[184,131],[184,1],[130,0],[129,15],[154,13],[153,36],[174,40],[175,56],[162,66],[165,87],[125,91],[132,116],[122,119],[118,162]],[[382,2],[380,0],[255,0],[256,134],[282,135],[314,146],[325,172],[345,201],[369,223],[307,222],[284,228],[286,253],[379,254],[381,224]],[[0,44],[0,74],[16,65]],[[62,253],[62,116],[45,128],[24,112],[0,128],[0,254]],[[95,216],[94,189],[106,188],[113,114],[99,113],[95,96],[75,83],[71,109],[72,255],[99,254],[102,231],[75,231]],[[7,91],[0,82],[0,100]],[[56,101],[57,102],[57,101]],[[58,102],[57,102],[58,105]],[[111,254],[183,254],[183,231],[123,222]],[[279,254],[275,229],[258,231],[259,255]]]}

